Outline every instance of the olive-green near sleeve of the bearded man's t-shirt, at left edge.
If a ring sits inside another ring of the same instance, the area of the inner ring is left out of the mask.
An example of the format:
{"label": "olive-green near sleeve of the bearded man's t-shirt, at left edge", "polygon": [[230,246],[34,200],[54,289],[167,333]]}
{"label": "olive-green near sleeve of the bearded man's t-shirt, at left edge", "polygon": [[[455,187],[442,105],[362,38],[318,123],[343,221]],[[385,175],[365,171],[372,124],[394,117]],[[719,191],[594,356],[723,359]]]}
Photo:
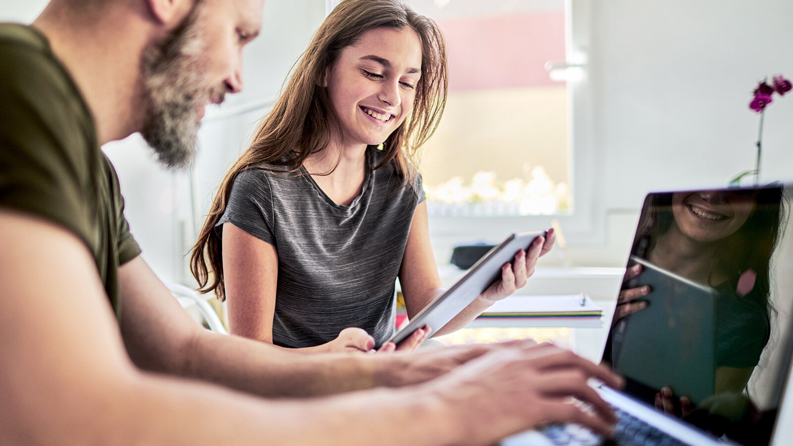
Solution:
{"label": "olive-green near sleeve of the bearded man's t-shirt, at left edge", "polygon": [[90,244],[94,210],[82,190],[93,184],[85,148],[94,136],[57,70],[33,48],[0,42],[0,206],[53,221]]}

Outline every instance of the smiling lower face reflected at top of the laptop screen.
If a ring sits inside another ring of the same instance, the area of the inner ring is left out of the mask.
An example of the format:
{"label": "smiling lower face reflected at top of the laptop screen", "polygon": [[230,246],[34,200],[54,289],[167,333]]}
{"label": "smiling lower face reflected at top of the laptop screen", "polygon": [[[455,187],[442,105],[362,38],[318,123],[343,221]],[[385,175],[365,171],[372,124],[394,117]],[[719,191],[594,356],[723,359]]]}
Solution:
{"label": "smiling lower face reflected at top of the laptop screen", "polygon": [[693,240],[710,243],[734,234],[755,208],[751,194],[723,190],[672,194],[677,229]]}

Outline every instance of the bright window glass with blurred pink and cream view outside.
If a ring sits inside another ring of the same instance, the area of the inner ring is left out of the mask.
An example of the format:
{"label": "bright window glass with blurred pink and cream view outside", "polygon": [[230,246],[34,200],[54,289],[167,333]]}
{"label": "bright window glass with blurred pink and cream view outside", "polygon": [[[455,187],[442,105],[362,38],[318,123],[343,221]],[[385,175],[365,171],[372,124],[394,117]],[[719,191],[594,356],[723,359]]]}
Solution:
{"label": "bright window glass with blurred pink and cream view outside", "polygon": [[568,213],[568,89],[546,71],[565,60],[565,0],[408,3],[438,23],[449,61],[421,165],[431,215]]}

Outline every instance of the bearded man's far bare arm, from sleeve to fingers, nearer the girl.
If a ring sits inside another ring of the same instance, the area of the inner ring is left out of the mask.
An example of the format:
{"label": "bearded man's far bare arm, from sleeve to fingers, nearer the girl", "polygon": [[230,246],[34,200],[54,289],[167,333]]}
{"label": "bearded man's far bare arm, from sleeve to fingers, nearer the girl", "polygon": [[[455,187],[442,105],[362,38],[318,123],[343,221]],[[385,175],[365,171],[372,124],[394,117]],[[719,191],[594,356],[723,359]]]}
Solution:
{"label": "bearded man's far bare arm, from sleeve to fingers, nearer the girl", "polygon": [[140,367],[220,383],[263,396],[318,396],[435,378],[488,350],[389,355],[301,355],[196,324],[140,258],[120,269],[121,329]]}

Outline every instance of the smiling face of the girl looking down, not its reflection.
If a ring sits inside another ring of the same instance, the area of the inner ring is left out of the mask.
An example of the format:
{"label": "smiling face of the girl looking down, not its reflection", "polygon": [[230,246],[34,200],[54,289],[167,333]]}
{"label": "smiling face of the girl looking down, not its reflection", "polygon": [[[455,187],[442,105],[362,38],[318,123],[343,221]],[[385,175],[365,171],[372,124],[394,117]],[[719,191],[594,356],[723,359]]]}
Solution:
{"label": "smiling face of the girl looking down, not its reflection", "polygon": [[409,28],[370,29],[344,48],[323,86],[347,147],[377,145],[413,108],[421,77],[421,41]]}

